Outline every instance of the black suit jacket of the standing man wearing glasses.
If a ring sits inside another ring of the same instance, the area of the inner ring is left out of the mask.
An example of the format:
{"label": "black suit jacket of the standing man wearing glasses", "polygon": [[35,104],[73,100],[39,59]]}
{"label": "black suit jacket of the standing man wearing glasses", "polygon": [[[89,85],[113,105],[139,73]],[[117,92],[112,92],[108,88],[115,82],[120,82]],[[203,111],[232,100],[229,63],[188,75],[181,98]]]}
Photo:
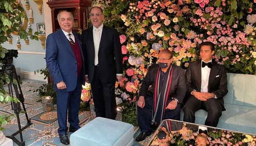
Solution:
{"label": "black suit jacket of the standing man wearing glasses", "polygon": [[[86,58],[86,74],[90,82],[94,76],[93,27],[82,32],[82,46]],[[98,51],[99,77],[103,84],[113,83],[116,74],[123,74],[121,43],[116,29],[103,26]]]}

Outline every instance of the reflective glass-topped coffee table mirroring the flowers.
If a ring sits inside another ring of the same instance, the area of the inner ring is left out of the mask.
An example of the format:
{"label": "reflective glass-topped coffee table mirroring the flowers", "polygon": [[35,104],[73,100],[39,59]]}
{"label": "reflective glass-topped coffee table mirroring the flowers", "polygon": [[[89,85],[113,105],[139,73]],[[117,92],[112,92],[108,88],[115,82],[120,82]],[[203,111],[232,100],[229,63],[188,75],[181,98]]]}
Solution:
{"label": "reflective glass-topped coffee table mirroring the flowers", "polygon": [[256,146],[256,135],[166,119],[148,146]]}

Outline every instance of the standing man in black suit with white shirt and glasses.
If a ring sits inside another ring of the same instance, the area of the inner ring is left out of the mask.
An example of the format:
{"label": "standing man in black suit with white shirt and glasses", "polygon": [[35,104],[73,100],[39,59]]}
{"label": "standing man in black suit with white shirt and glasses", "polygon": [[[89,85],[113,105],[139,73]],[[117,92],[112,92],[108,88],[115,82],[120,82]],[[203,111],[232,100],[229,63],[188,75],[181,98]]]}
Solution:
{"label": "standing man in black suit with white shirt and glasses", "polygon": [[82,46],[87,64],[86,80],[89,77],[96,116],[115,119],[115,82],[116,78],[120,81],[123,77],[120,38],[116,29],[103,25],[104,16],[100,7],[91,8],[90,19],[93,27],[82,32]]}

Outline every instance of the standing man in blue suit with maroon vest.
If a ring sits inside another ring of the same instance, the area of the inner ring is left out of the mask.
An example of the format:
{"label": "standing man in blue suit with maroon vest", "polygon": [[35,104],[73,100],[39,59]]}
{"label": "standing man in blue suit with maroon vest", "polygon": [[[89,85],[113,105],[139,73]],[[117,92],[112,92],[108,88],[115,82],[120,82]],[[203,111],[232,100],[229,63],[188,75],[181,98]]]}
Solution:
{"label": "standing man in blue suit with maroon vest", "polygon": [[57,95],[60,142],[68,145],[67,110],[69,132],[80,128],[78,112],[82,84],[85,82],[84,59],[79,35],[72,32],[72,14],[60,12],[57,19],[61,29],[48,35],[46,39],[46,64]]}

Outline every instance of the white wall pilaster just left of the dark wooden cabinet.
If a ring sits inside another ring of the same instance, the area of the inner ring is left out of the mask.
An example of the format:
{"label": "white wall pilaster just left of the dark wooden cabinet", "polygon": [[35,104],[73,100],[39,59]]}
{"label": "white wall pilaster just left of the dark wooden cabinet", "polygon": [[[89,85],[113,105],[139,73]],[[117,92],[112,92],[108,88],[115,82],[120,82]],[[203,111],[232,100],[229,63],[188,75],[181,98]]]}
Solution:
{"label": "white wall pilaster just left of the dark wooden cabinet", "polygon": [[52,12],[49,5],[46,4],[47,1],[48,0],[43,0],[46,37],[52,33]]}

